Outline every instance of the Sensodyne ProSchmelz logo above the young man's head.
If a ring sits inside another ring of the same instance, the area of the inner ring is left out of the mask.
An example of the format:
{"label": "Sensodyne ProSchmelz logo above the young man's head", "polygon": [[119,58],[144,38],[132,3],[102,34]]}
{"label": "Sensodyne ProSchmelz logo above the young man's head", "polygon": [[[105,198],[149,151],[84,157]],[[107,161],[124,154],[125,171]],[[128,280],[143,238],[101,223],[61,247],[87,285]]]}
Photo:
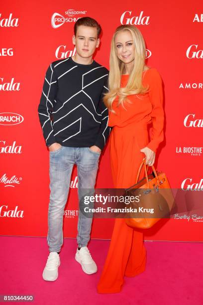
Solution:
{"label": "Sensodyne ProSchmelz logo above the young man's head", "polygon": [[55,12],[51,17],[51,25],[53,28],[58,28],[63,25],[65,22],[76,22],[79,18],[78,15],[85,15],[87,14],[87,10],[75,10],[75,9],[68,9],[65,11],[65,15],[68,17],[64,17],[63,15]]}

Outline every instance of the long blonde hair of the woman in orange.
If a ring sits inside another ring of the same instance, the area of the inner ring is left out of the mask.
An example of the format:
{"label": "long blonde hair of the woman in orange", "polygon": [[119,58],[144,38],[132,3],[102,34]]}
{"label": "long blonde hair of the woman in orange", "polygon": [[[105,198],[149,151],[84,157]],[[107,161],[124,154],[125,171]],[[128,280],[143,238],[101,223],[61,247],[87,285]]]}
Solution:
{"label": "long blonde hair of the woman in orange", "polygon": [[[125,65],[117,57],[115,35],[124,30],[130,31],[132,34],[132,39],[135,46],[135,60],[126,87],[120,88],[121,74],[125,72]],[[109,92],[106,93],[103,98],[103,102],[109,110],[112,111],[112,103],[116,96],[118,96],[118,105],[122,104],[124,107],[123,102],[129,102],[127,100],[128,95],[145,94],[148,91],[148,87],[145,88],[142,85],[142,72],[148,69],[148,67],[145,65],[145,52],[144,38],[138,28],[128,24],[120,25],[116,28],[111,40],[110,49],[110,69],[108,76]]]}

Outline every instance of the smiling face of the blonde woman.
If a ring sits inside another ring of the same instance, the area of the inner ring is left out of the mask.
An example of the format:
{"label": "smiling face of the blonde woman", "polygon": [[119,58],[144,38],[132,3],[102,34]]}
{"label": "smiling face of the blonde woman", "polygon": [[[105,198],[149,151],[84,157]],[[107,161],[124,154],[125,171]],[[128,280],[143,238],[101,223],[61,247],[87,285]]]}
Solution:
{"label": "smiling face of the blonde woman", "polygon": [[118,58],[125,64],[135,59],[135,45],[132,34],[128,30],[123,30],[115,35],[115,47]]}

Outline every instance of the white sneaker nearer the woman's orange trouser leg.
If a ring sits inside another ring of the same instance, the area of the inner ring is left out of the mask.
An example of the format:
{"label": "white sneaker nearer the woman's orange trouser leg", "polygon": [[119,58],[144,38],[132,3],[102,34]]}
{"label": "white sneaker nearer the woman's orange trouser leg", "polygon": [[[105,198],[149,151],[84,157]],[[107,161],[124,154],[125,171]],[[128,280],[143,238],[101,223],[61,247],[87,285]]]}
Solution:
{"label": "white sneaker nearer the woman's orange trouser leg", "polygon": [[81,264],[82,269],[87,274],[93,274],[97,272],[97,265],[92,259],[88,247],[82,247],[80,250],[77,249],[76,261]]}

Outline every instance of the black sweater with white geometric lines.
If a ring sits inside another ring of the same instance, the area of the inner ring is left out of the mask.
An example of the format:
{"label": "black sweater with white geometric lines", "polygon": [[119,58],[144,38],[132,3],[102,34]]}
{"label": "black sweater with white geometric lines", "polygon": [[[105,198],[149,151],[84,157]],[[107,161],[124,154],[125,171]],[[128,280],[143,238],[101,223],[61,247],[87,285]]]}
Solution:
{"label": "black sweater with white geometric lines", "polygon": [[95,60],[84,65],[71,57],[57,60],[47,69],[38,106],[47,146],[103,149],[110,128],[102,99],[107,92],[108,70]]}

